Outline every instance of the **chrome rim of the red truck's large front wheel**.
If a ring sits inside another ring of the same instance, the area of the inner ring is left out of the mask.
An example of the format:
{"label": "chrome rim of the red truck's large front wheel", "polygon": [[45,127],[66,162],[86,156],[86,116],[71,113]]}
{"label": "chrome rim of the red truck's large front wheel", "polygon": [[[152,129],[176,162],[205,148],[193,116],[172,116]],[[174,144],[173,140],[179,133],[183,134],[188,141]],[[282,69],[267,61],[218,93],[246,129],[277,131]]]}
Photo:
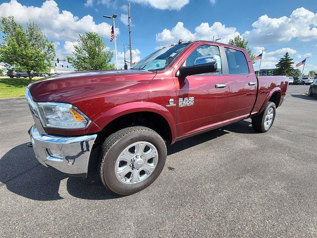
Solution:
{"label": "chrome rim of the red truck's large front wheel", "polygon": [[116,178],[124,184],[136,184],[148,179],[158,164],[158,150],[147,141],[127,146],[115,162]]}

